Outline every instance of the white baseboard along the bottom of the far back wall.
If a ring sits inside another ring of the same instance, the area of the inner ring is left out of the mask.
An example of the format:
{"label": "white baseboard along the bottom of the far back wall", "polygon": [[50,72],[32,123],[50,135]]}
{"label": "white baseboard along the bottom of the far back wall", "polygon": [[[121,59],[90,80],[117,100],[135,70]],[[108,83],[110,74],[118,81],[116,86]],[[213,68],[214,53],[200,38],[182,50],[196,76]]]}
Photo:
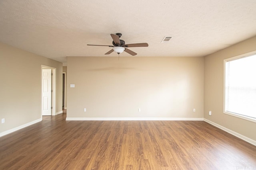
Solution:
{"label": "white baseboard along the bottom of the far back wall", "polygon": [[70,120],[80,120],[80,121],[88,121],[88,120],[99,120],[99,121],[110,121],[110,120],[160,120],[160,121],[170,121],[170,120],[182,120],[182,121],[203,121],[204,118],[183,118],[183,117],[66,117],[67,121]]}

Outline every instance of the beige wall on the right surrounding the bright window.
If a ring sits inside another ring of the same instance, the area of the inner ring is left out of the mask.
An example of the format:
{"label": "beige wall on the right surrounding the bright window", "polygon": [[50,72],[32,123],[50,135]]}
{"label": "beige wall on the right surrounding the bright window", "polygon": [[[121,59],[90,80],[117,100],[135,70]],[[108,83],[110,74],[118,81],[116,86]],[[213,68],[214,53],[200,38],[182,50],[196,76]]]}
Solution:
{"label": "beige wall on the right surrounding the bright window", "polygon": [[256,37],[204,58],[204,118],[256,141],[256,123],[223,113],[224,59],[251,51],[256,51]]}

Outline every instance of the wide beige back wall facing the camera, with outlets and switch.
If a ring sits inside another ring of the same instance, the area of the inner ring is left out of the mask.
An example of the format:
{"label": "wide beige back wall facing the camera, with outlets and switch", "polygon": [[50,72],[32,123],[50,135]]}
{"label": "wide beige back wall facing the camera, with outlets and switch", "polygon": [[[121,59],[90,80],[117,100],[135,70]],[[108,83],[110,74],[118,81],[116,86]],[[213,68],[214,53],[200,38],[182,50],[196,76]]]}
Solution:
{"label": "wide beige back wall facing the camera, with outlets and switch", "polygon": [[68,57],[67,117],[202,118],[203,88],[203,57]]}

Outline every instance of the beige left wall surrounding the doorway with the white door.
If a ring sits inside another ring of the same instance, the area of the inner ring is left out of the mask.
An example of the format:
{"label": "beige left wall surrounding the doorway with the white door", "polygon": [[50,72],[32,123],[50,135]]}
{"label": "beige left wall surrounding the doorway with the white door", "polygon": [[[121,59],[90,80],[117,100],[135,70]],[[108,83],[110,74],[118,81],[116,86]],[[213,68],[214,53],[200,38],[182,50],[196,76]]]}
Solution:
{"label": "beige left wall surrounding the doorway with the white door", "polygon": [[0,43],[0,133],[41,118],[41,64],[56,68],[62,111],[62,63]]}

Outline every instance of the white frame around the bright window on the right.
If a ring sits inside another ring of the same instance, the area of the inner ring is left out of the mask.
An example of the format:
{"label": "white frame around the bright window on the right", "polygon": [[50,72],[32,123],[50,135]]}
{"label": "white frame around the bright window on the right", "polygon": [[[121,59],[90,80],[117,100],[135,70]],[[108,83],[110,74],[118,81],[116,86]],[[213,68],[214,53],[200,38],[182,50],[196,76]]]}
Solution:
{"label": "white frame around the bright window on the right", "polygon": [[256,55],[256,51],[252,51],[250,53],[245,53],[245,54],[242,54],[242,55],[238,55],[238,56],[235,56],[235,57],[231,57],[231,58],[228,58],[228,59],[224,59],[224,93],[223,93],[223,113],[224,114],[227,114],[227,115],[231,115],[231,116],[234,116],[234,117],[239,117],[241,119],[245,119],[245,120],[248,120],[248,121],[253,121],[253,122],[256,122],[256,119],[253,118],[253,117],[248,117],[248,116],[245,116],[245,115],[239,115],[239,114],[236,114],[236,113],[231,113],[231,112],[228,112],[228,111],[225,111],[225,96],[226,96],[226,87],[225,87],[225,84],[226,84],[226,62],[228,61],[233,61],[233,60],[237,60],[237,59],[241,59],[243,57],[250,57],[252,55]]}

